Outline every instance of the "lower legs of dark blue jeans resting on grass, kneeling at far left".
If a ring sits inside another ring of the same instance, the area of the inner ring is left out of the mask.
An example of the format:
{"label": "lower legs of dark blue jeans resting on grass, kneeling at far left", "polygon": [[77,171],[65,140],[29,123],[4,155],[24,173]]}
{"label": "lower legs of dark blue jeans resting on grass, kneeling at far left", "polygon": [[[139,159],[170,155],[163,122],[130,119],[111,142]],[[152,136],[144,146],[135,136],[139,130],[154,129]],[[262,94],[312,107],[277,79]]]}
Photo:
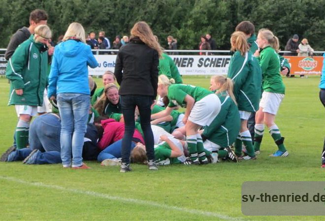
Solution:
{"label": "lower legs of dark blue jeans resting on grass, kneeling at far left", "polygon": [[[30,155],[32,150],[30,148],[23,148],[20,150],[16,150],[13,161],[21,161]],[[50,151],[38,154],[35,164],[52,164],[52,163],[61,163],[60,152],[58,151]]]}

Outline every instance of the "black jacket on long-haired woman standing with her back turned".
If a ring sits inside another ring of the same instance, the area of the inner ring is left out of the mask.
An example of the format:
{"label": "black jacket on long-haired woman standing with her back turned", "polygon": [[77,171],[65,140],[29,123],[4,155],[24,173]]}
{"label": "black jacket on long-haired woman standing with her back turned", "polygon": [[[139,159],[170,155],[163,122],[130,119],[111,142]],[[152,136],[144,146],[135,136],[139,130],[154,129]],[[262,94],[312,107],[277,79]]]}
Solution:
{"label": "black jacket on long-haired woman standing with her back turned", "polygon": [[[139,38],[121,47],[116,57],[114,75],[120,95],[149,95],[156,99],[159,55]],[[123,70],[123,72],[122,72]]]}

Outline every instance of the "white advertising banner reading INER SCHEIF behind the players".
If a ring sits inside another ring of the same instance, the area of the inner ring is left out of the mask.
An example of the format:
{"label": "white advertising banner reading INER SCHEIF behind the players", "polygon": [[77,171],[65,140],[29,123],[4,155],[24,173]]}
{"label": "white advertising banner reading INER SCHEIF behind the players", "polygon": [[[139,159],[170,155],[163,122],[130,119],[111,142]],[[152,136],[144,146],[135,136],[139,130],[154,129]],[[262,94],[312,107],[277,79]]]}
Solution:
{"label": "white advertising banner reading INER SCHEIF behind the players", "polygon": [[[173,55],[170,56],[181,75],[218,75],[227,74],[230,56],[199,56]],[[88,68],[90,75],[102,75],[109,70],[114,72],[116,55],[95,55],[99,66]]]}

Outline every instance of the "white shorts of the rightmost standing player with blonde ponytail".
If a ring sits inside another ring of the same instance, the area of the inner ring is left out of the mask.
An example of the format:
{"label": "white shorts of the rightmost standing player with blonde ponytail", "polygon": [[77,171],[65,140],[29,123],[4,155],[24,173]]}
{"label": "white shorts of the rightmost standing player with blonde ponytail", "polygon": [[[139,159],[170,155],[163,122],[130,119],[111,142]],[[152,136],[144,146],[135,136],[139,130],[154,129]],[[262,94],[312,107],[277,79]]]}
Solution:
{"label": "white shorts of the rightmost standing player with blonde ponytail", "polygon": [[260,99],[260,107],[263,108],[263,112],[276,115],[283,98],[284,94],[263,92],[262,99]]}

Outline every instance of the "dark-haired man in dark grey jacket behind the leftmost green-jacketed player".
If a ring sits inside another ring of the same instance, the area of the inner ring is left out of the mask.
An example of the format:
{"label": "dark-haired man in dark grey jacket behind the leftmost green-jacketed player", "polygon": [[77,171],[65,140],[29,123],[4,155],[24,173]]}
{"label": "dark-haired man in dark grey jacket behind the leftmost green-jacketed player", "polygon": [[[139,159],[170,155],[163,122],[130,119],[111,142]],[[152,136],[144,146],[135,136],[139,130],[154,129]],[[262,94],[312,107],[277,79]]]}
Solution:
{"label": "dark-haired man in dark grey jacket behind the leftmost green-jacketed player", "polygon": [[39,25],[46,25],[47,24],[48,15],[46,11],[41,9],[35,9],[30,14],[30,27],[23,27],[18,29],[16,33],[14,33],[9,41],[7,46],[7,50],[4,54],[5,60],[9,60],[13,55],[14,51],[24,41],[26,41],[31,34],[34,33],[34,30]]}

